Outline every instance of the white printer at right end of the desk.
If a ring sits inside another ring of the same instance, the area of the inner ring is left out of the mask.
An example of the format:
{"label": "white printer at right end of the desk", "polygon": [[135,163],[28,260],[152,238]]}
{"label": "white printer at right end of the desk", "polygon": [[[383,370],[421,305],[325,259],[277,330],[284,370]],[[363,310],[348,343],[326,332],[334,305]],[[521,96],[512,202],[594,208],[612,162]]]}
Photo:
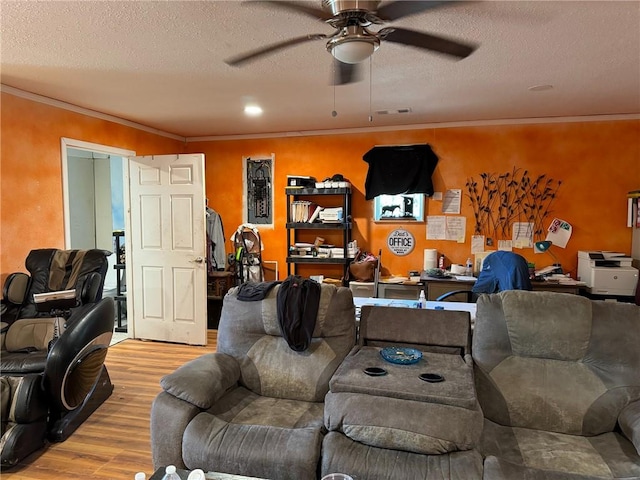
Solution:
{"label": "white printer at right end of the desk", "polygon": [[578,251],[578,278],[594,295],[636,294],[638,269],[622,253]]}

